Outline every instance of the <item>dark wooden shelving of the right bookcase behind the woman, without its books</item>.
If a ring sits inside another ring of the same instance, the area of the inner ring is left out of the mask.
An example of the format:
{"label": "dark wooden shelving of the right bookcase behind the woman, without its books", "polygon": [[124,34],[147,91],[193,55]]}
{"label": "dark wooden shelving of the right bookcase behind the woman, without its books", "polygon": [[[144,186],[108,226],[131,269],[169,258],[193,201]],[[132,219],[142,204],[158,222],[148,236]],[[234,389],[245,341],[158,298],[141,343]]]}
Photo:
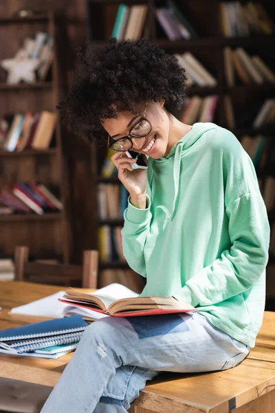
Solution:
{"label": "dark wooden shelving of the right bookcase behind the woman, without its books", "polygon": [[[87,0],[87,38],[90,41],[104,44],[111,37],[115,18],[120,6],[118,0]],[[226,121],[225,107],[223,105],[223,96],[228,95],[232,100],[232,107],[236,114],[236,118],[242,114],[245,108],[253,101],[265,101],[267,98],[275,98],[275,83],[263,82],[262,84],[250,83],[243,84],[240,79],[234,86],[229,86],[225,79],[224,56],[223,50],[225,47],[243,47],[249,54],[259,54],[267,63],[271,70],[275,70],[274,59],[272,58],[275,44],[275,32],[272,34],[253,34],[253,36],[223,36],[221,27],[221,3],[230,3],[230,1],[220,0],[186,0],[184,2],[175,0],[178,8],[181,10],[184,17],[188,19],[192,27],[197,31],[197,38],[169,40],[159,25],[155,16],[155,9],[166,6],[165,0],[125,0],[126,6],[146,5],[148,6],[146,22],[144,24],[143,36],[157,43],[168,53],[183,54],[191,52],[203,64],[204,67],[217,79],[217,86],[199,87],[191,85],[188,88],[188,94],[192,96],[209,96],[216,94],[219,98],[217,109],[213,118],[213,122],[221,127],[230,129]],[[184,3],[184,6],[183,6]],[[246,1],[241,2],[247,3]],[[273,0],[253,0],[252,3],[262,3],[267,10],[267,13],[275,23],[275,3]],[[181,114],[175,114],[181,116]],[[265,165],[256,167],[256,172],[259,178],[265,182],[267,176],[275,177],[275,123],[271,125],[262,125],[259,128],[254,128],[252,125],[241,125],[236,123],[234,128],[231,128],[236,137],[241,140],[245,135],[250,135],[254,138],[258,135],[266,136],[267,138],[267,158]],[[92,145],[92,176],[96,185],[106,183],[118,183],[118,178],[110,177],[103,178],[100,176],[100,169],[104,162],[106,148]],[[269,212],[270,226],[275,226],[275,213]],[[95,219],[98,226],[102,224],[114,225],[114,220],[100,220],[99,214],[95,213]],[[272,277],[275,273],[275,257],[270,254],[270,261],[267,266],[267,286],[273,285],[274,294],[271,299],[275,308],[275,283],[272,282]],[[119,262],[102,262],[104,268],[112,266],[124,266],[124,263]],[[267,287],[267,291],[270,288]],[[267,293],[268,294],[268,293]]]}

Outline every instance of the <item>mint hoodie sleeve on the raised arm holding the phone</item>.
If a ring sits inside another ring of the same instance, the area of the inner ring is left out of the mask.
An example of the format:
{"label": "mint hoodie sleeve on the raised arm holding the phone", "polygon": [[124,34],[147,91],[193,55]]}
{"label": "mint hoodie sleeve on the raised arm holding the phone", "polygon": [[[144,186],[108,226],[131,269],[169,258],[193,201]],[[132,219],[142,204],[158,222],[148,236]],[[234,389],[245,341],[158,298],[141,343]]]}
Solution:
{"label": "mint hoodie sleeve on the raised arm holding the phone", "polygon": [[146,209],[135,208],[128,199],[121,231],[124,257],[133,271],[143,277],[146,277],[144,245],[152,218],[150,207],[151,199],[148,195],[146,195]]}

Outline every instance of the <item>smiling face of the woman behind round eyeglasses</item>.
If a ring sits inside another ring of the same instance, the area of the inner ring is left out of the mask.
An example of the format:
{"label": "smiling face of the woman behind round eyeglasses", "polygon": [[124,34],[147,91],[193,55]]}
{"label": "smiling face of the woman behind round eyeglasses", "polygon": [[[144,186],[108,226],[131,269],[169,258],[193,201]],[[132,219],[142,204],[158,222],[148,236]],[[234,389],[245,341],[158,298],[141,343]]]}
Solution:
{"label": "smiling face of the woman behind round eyeglasses", "polygon": [[[113,140],[128,136],[131,127],[142,117],[144,107],[145,103],[137,105],[136,116],[128,111],[118,112],[117,118],[104,119],[102,126]],[[151,123],[152,130],[142,138],[131,136],[133,142],[131,151],[144,153],[154,159],[162,158],[170,151],[168,147],[170,122],[168,113],[164,109],[164,102],[147,102],[145,118]]]}

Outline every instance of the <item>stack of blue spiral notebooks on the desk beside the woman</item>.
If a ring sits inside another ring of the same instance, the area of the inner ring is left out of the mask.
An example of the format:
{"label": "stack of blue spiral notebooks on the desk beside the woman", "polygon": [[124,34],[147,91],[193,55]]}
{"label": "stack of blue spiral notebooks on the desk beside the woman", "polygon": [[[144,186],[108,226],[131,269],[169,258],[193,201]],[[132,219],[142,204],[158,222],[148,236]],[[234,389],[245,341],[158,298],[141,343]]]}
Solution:
{"label": "stack of blue spiral notebooks on the desk beside the woman", "polygon": [[89,324],[80,315],[0,330],[0,352],[57,359],[76,349]]}

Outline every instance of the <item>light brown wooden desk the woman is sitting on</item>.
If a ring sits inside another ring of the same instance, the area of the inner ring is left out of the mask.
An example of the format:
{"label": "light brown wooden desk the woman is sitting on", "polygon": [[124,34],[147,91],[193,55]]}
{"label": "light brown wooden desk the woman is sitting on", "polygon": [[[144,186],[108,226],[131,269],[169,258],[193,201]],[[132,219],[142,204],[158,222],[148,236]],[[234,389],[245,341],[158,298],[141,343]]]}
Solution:
{"label": "light brown wooden desk the woman is sitting on", "polygon": [[[0,282],[0,328],[41,321],[41,317],[8,315],[8,310],[63,288]],[[274,320],[275,313],[265,313],[256,347],[239,366],[205,374],[162,374],[146,385],[129,412],[275,413]],[[54,387],[71,357],[72,353],[56,360],[0,354],[0,375]]]}

